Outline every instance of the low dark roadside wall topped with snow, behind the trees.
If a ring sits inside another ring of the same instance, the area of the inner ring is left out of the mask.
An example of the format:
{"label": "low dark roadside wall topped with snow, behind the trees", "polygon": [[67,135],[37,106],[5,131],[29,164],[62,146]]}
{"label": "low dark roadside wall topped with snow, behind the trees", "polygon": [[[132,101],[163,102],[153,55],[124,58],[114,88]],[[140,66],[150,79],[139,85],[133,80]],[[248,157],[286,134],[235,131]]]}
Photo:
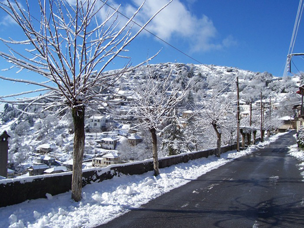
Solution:
{"label": "low dark roadside wall topped with snow, behind the trees", "polygon": [[[233,149],[236,149],[236,144],[223,146],[221,153]],[[209,149],[162,158],[159,160],[160,168],[186,163],[189,160],[207,158],[214,152],[215,149]],[[113,176],[136,175],[148,171],[153,171],[152,160],[87,169],[83,172],[83,186],[111,179]],[[0,180],[0,207],[18,204],[26,200],[46,198],[47,193],[54,196],[68,192],[71,189],[71,181],[72,172]]]}

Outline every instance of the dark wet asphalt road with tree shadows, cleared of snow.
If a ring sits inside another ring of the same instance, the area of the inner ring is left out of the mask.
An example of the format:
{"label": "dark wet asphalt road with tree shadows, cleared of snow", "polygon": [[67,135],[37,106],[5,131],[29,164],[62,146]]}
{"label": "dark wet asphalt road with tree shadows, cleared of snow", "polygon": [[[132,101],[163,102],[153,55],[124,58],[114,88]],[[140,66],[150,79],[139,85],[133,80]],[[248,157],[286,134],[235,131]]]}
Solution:
{"label": "dark wet asphalt road with tree shadows, cleared of snow", "polygon": [[98,227],[304,227],[292,133]]}

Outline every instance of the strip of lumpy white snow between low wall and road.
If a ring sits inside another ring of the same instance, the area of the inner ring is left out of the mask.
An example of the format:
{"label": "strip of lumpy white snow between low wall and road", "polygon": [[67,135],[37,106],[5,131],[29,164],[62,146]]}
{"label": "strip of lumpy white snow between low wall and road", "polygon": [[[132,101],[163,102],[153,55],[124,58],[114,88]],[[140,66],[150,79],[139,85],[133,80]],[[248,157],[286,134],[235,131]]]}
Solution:
{"label": "strip of lumpy white snow between low wall and road", "polygon": [[83,199],[78,203],[70,199],[70,193],[64,193],[3,207],[0,208],[0,227],[94,227],[233,159],[250,154],[274,142],[282,134],[240,152],[227,152],[221,158],[211,156],[161,169],[158,177],[154,177],[151,171],[87,185],[83,188]]}

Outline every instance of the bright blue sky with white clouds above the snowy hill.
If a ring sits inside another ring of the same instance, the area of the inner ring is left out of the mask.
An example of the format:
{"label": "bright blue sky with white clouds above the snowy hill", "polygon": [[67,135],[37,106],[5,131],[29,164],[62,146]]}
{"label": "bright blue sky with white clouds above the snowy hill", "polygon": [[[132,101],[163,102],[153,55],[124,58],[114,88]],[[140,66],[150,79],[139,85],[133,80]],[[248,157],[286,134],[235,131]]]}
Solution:
{"label": "bright blue sky with white clouds above the snowy hill", "polygon": [[[74,0],[68,0],[73,2]],[[121,12],[129,15],[142,0],[109,0],[113,6],[122,3]],[[156,9],[168,0],[147,0],[145,8],[136,21],[143,23]],[[297,0],[173,0],[150,24],[148,29],[174,47],[204,64],[232,66],[252,71],[268,71],[281,77],[288,54],[294,21],[299,1]],[[123,20],[123,19],[122,19]],[[16,25],[7,20],[0,11],[0,36],[17,38],[22,36]],[[300,24],[294,52],[304,52],[303,23]],[[134,25],[136,28],[136,25]],[[302,44],[301,44],[302,43]],[[133,65],[147,56],[161,53],[150,63],[197,62],[172,47],[143,33],[128,47]],[[1,51],[6,52],[4,45]],[[297,57],[300,58],[300,57]],[[298,69],[304,60],[297,61]],[[123,67],[120,60],[110,68]],[[0,59],[0,66],[8,64]],[[14,77],[16,70],[0,72]],[[29,77],[28,73],[24,73]],[[24,77],[22,73],[18,77]],[[28,90],[24,85],[1,81],[0,95]]]}

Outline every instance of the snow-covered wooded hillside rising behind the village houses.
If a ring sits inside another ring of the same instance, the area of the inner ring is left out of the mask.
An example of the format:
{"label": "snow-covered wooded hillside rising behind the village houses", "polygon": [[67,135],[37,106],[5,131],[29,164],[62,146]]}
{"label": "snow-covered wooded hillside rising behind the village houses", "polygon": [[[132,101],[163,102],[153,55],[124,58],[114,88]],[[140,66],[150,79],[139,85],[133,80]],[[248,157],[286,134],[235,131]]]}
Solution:
{"label": "snow-covered wooded hillside rising behind the village houses", "polygon": [[[111,71],[113,72],[113,71]],[[286,115],[293,115],[291,107],[300,100],[295,94],[298,89],[299,79],[276,78],[268,72],[252,72],[234,67],[215,65],[195,65],[182,63],[161,63],[144,65],[132,72],[122,75],[119,81],[110,88],[113,99],[115,95],[132,96],[132,88],[145,82],[147,73],[162,78],[171,73],[172,80],[181,87],[191,81],[194,86],[182,104],[178,107],[178,114],[191,109],[192,105],[202,100],[210,99],[214,94],[219,100],[226,102],[227,97],[234,96],[236,99],[236,77],[240,82],[240,98],[247,104],[260,99],[260,92],[263,99],[271,97],[273,103],[277,103],[277,110],[272,115],[276,118]],[[280,91],[280,93],[278,93]],[[287,105],[284,105],[287,104]],[[103,106],[106,106],[103,104]],[[93,115],[104,115],[106,126],[100,130],[92,130],[86,133],[86,145],[84,161],[91,160],[108,153],[109,150],[100,147],[100,140],[104,137],[113,137],[118,140],[116,149],[121,158],[126,161],[143,160],[151,157],[151,141],[149,135],[142,129],[136,128],[136,120],[120,118],[120,113],[127,113],[131,109],[131,103],[117,102],[113,105],[116,116],[112,112],[98,109],[87,112],[87,121]],[[6,104],[1,114],[0,131],[7,130],[10,139],[9,166],[10,168],[24,172],[37,158],[36,149],[41,144],[53,144],[56,149],[51,153],[56,158],[56,164],[60,165],[72,158],[73,146],[73,124],[70,113],[54,115],[56,110],[50,109],[42,112],[39,106],[31,106],[26,113],[17,119],[24,110],[22,106],[11,106]],[[87,122],[89,123],[89,122]],[[137,146],[130,146],[127,137],[137,132],[141,135],[143,142]],[[204,143],[198,149],[214,147],[215,140],[210,131],[207,135],[201,136]],[[223,139],[223,143],[226,143]],[[227,139],[228,140],[228,139]],[[160,138],[160,157],[167,156],[168,151],[162,148],[162,137]],[[88,166],[91,162],[87,163]]]}

